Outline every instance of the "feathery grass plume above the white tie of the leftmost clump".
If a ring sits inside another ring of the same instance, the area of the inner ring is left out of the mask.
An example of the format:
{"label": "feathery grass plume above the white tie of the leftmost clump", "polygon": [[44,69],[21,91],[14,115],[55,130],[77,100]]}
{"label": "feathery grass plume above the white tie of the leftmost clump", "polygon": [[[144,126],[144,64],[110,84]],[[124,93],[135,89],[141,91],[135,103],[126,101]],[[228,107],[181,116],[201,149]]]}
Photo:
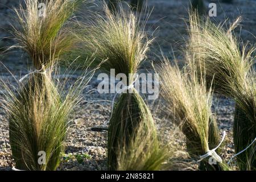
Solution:
{"label": "feathery grass plume above the white tie of the leftmost clump", "polygon": [[13,26],[11,34],[18,44],[11,48],[27,52],[38,70],[42,69],[42,65],[52,65],[50,61],[60,59],[76,45],[76,37],[71,33],[71,22],[68,23],[68,20],[83,1],[25,0],[25,8],[20,5],[19,9],[14,9],[17,26]]}

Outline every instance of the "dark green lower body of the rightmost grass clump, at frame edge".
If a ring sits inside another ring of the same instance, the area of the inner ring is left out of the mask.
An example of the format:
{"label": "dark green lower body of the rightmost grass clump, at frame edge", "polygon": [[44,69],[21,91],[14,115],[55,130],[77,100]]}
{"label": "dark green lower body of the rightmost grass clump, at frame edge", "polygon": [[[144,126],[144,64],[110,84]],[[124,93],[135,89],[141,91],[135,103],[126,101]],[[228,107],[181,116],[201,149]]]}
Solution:
{"label": "dark green lower body of the rightmost grass clump, at frame edge", "polygon": [[[234,90],[236,110],[234,115],[234,144],[236,152],[245,149],[256,137],[256,73],[247,73],[241,88]],[[255,143],[237,156],[240,169],[256,169]]]}

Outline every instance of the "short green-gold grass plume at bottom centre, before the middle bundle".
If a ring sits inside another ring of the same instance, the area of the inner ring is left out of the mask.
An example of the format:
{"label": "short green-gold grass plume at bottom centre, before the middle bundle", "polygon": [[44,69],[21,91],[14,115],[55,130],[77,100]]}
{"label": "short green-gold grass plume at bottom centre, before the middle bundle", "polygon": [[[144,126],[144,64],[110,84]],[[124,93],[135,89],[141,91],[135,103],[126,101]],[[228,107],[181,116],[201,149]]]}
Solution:
{"label": "short green-gold grass plume at bottom centre, before the middle bundle", "polygon": [[162,169],[162,163],[170,156],[169,152],[163,150],[163,146],[160,145],[158,138],[152,138],[148,135],[148,133],[155,133],[155,131],[148,130],[145,130],[144,123],[140,123],[137,128],[131,131],[128,141],[129,147],[124,143],[118,148],[118,171],[152,171]]}

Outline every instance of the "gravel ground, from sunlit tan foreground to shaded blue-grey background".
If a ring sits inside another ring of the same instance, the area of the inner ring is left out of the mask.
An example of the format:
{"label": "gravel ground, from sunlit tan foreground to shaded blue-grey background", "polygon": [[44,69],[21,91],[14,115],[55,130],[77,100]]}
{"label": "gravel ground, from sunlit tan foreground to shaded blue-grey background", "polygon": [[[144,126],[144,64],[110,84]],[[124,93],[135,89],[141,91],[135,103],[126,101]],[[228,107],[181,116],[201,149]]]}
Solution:
{"label": "gravel ground, from sunlit tan foreground to shaded blue-grey background", "polygon": [[[7,1],[6,1],[7,2]],[[0,26],[3,28],[9,28],[8,23],[2,18],[5,18],[5,14],[11,14],[10,10],[1,6],[1,3],[6,3],[0,0]],[[14,1],[10,1],[14,2]],[[15,1],[16,2],[16,1]],[[205,1],[207,3],[214,1]],[[216,2],[216,1],[215,1]],[[206,4],[207,4],[206,3]],[[11,6],[7,4],[8,6]],[[154,31],[159,27],[156,32],[157,44],[152,48],[158,50],[159,46],[163,49],[163,52],[168,55],[171,52],[171,48],[174,51],[179,51],[184,39],[186,39],[185,23],[181,18],[187,17],[187,1],[172,1],[172,0],[149,0],[148,5],[150,8],[154,7],[151,17],[147,23],[147,29]],[[241,34],[243,40],[249,40],[251,43],[255,43],[255,16],[256,2],[244,0],[234,0],[233,5],[221,3],[217,5],[217,22],[224,20],[224,16],[230,19],[236,18],[237,15],[243,16],[242,31]],[[224,13],[225,12],[225,13]],[[253,29],[254,28],[254,29]],[[239,29],[239,28],[238,28]],[[13,44],[9,39],[2,39],[8,36],[6,31],[0,29],[0,51],[1,46],[10,46]],[[179,52],[177,52],[179,55]],[[170,55],[168,55],[170,57]],[[28,59],[22,52],[16,51],[9,53],[8,55],[1,56],[0,60],[5,66],[13,73],[15,78],[20,78],[27,73],[29,67]],[[8,80],[11,84],[15,84],[15,79],[6,71],[3,67],[0,68],[1,78]],[[76,77],[76,76],[75,76]],[[90,81],[90,86],[85,90],[85,100],[94,101],[93,104],[81,105],[77,107],[74,114],[73,124],[69,130],[69,135],[66,141],[66,151],[61,163],[60,170],[102,170],[106,169],[106,131],[95,132],[90,130],[91,127],[101,125],[104,121],[108,121],[110,117],[111,104],[113,94],[98,94],[93,92],[86,94],[89,90],[97,88],[98,81],[96,76]],[[2,96],[0,95],[0,98]],[[109,100],[100,102],[99,100]],[[184,136],[177,133],[179,137],[174,137],[175,126],[165,119],[165,115],[156,107],[163,108],[164,106],[156,100],[154,103],[150,102],[152,112],[155,121],[158,123],[158,128],[162,131],[162,137],[164,140],[172,140],[172,144],[177,146],[177,150],[184,151]],[[217,115],[218,126],[220,127],[220,133],[227,131],[225,150],[222,151],[222,158],[225,160],[230,159],[230,156],[234,154],[233,150],[233,112],[234,102],[222,96],[215,96],[213,102],[213,111]],[[83,156],[81,160],[75,156]],[[185,159],[186,155],[177,155],[177,159]],[[14,165],[14,160],[11,158],[11,150],[9,144],[9,131],[8,121],[3,109],[0,109],[0,170],[11,170]]]}

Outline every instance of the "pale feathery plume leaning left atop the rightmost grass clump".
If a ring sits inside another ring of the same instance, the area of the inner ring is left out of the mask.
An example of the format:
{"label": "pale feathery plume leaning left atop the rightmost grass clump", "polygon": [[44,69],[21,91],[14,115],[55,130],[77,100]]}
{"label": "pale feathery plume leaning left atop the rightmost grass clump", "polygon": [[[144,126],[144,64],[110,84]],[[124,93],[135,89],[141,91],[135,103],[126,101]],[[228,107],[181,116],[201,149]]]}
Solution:
{"label": "pale feathery plume leaning left atop the rightmost grass clump", "polygon": [[189,16],[189,56],[195,57],[196,65],[207,77],[208,85],[214,76],[214,92],[232,96],[235,87],[240,87],[245,75],[253,65],[255,48],[242,46],[232,30],[241,22],[241,17],[226,31],[209,18],[200,19],[196,13]]}

